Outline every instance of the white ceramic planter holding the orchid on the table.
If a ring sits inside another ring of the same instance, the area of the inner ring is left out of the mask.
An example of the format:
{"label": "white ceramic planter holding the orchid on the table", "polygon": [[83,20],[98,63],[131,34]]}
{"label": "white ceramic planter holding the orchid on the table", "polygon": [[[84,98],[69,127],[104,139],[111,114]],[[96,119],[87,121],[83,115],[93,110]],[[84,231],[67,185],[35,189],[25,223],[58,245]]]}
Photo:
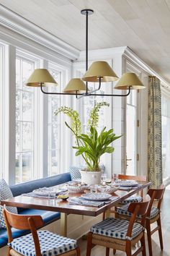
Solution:
{"label": "white ceramic planter holding the orchid on the table", "polygon": [[101,183],[102,171],[80,171],[80,173],[81,182],[88,185]]}

